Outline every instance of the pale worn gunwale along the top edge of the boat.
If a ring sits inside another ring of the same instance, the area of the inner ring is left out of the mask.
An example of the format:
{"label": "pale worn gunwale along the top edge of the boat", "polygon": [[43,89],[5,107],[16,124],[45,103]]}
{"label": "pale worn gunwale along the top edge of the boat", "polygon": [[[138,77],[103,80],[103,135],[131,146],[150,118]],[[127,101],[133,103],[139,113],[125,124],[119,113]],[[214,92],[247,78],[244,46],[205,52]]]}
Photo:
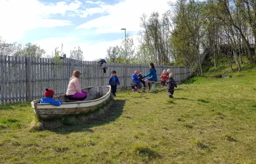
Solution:
{"label": "pale worn gunwale along the top edge of the boat", "polygon": [[[94,86],[84,87],[84,88],[82,88],[81,90],[83,90],[83,89],[90,89],[90,88],[93,88],[93,87],[94,87]],[[103,86],[101,86],[101,87],[103,87]],[[91,102],[94,102],[94,101],[99,101],[99,100],[101,100],[101,99],[103,99],[103,98],[105,98],[105,97],[107,97],[107,96],[110,95],[111,87],[110,87],[110,86],[106,86],[106,87],[108,87],[108,92],[107,92],[107,94],[105,94],[104,96],[102,96],[102,97],[100,97],[100,98],[97,98],[97,99],[95,99],[95,100],[87,100],[87,101],[85,100],[85,101],[75,101],[75,102],[63,102],[63,104],[77,104],[77,103],[82,104],[82,103],[91,103]],[[56,96],[56,97],[54,97],[54,98],[63,97],[63,96],[65,96],[65,95],[66,95],[66,94],[58,95],[58,96]],[[38,103],[38,101],[40,101],[40,100],[41,100],[41,99],[31,101],[32,108],[34,108],[33,106],[46,106],[46,105],[49,105],[49,104],[50,104],[50,103],[40,104],[40,103]],[[62,105],[63,105],[63,104],[62,104]]]}

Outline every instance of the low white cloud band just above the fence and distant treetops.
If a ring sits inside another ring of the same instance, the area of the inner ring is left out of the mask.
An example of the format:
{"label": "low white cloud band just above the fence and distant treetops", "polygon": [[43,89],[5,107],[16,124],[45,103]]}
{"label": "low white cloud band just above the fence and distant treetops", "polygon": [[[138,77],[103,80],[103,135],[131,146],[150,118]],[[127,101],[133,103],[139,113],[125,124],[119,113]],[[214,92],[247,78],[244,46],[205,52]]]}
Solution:
{"label": "low white cloud band just above the fence and distant treetops", "polygon": [[[138,46],[137,35],[132,36],[133,43]],[[116,39],[114,41],[102,41],[99,43],[91,43],[90,41],[81,41],[76,37],[66,37],[66,38],[47,38],[35,41],[34,44],[40,45],[40,47],[46,50],[47,55],[51,55],[55,47],[61,47],[63,43],[63,53],[66,53],[69,57],[70,50],[74,47],[80,46],[81,50],[84,52],[84,60],[92,61],[98,58],[105,58],[107,55],[107,48],[110,46],[120,46],[121,39]]]}

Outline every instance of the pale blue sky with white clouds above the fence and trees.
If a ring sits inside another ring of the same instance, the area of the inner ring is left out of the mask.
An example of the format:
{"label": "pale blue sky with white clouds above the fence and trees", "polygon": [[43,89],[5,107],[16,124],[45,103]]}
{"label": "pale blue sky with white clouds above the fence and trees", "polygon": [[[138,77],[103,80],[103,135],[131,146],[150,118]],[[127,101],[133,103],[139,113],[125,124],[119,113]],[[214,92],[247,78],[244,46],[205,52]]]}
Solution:
{"label": "pale blue sky with white clouds above the fence and trees", "polygon": [[138,46],[140,16],[164,13],[169,0],[0,0],[0,36],[7,42],[38,44],[51,54],[80,46],[84,60],[104,58],[126,28]]}

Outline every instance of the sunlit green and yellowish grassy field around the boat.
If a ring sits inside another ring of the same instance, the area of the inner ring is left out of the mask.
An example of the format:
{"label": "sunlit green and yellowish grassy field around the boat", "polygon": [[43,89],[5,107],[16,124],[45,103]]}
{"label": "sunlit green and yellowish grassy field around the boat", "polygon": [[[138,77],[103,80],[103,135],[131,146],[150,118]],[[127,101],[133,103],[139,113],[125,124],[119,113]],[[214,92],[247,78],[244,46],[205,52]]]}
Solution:
{"label": "sunlit green and yellowish grassy field around the boat", "polygon": [[104,117],[55,131],[30,131],[29,103],[0,106],[0,163],[256,163],[256,69],[211,71],[173,100],[119,91]]}

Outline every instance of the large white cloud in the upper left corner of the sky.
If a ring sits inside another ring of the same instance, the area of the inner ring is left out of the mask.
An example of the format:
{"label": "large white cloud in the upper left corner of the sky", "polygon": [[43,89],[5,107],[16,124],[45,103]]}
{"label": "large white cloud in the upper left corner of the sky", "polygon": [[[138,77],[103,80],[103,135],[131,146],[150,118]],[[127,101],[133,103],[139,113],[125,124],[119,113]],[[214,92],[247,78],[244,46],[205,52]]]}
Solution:
{"label": "large white cloud in the upper left corner of the sky", "polygon": [[0,35],[13,42],[23,38],[27,30],[71,25],[71,21],[51,19],[51,15],[74,12],[81,4],[80,1],[43,4],[37,0],[0,0]]}

